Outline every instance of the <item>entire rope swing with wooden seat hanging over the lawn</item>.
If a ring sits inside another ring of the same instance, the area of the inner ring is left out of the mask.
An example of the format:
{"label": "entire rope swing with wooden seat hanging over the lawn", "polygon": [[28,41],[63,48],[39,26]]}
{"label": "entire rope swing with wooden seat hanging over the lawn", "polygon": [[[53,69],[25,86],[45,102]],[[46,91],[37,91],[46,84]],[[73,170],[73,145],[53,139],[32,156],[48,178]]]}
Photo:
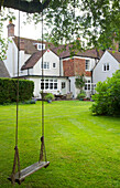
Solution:
{"label": "entire rope swing with wooden seat hanging over the lawn", "polygon": [[[20,3],[20,0],[19,0]],[[20,158],[19,158],[19,148],[18,148],[18,119],[19,119],[19,65],[20,65],[20,11],[19,11],[19,28],[18,28],[18,84],[17,84],[17,125],[15,125],[15,147],[14,147],[14,160],[13,160],[13,168],[12,174],[8,178],[13,185],[18,182],[21,185],[21,182],[25,179],[25,177],[30,176],[31,174],[35,173],[36,170],[47,167],[50,165],[50,161],[46,160],[46,152],[45,152],[45,143],[44,143],[44,96],[43,96],[43,87],[42,87],[42,137],[41,137],[41,149],[40,149],[40,156],[39,161],[22,169],[20,168]],[[42,11],[42,82],[44,80],[44,71],[43,71],[43,11]],[[45,160],[43,161],[43,158],[45,157]],[[18,165],[18,173],[17,170]]]}

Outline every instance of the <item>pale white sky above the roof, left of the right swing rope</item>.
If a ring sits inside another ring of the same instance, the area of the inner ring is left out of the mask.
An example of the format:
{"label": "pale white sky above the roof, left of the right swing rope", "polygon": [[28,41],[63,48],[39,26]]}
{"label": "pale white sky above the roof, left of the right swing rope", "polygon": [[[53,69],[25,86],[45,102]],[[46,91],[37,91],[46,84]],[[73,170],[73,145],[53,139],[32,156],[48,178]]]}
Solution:
{"label": "pale white sky above the roof, left of the right swing rope", "polygon": [[[13,10],[17,20],[13,20],[13,24],[15,25],[14,28],[14,34],[18,35],[18,25],[19,25],[19,11],[18,10]],[[24,13],[20,12],[20,36],[22,38],[29,38],[29,39],[41,39],[41,23],[39,23],[37,25],[35,25],[34,23],[26,23],[24,25],[23,21],[24,21]],[[7,38],[8,36],[8,28],[7,25],[9,24],[9,21],[6,21],[3,23],[3,36]]]}

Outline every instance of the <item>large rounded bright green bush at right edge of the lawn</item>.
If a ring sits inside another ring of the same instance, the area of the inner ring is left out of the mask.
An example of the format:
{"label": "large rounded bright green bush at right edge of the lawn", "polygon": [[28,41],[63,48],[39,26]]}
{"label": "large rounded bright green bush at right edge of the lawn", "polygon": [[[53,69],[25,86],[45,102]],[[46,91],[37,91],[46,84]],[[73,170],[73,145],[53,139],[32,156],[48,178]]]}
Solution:
{"label": "large rounded bright green bush at right edge of the lawn", "polygon": [[120,71],[105,82],[98,82],[92,96],[92,113],[98,115],[120,115]]}

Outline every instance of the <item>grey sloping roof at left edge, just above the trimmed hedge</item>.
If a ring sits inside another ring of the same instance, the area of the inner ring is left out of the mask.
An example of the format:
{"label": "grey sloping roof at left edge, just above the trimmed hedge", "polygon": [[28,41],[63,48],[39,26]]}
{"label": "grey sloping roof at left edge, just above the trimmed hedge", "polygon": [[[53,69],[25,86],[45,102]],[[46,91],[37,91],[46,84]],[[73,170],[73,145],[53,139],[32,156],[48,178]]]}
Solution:
{"label": "grey sloping roof at left edge, just above the trimmed hedge", "polygon": [[10,77],[10,74],[3,63],[3,61],[0,60],[0,77]]}

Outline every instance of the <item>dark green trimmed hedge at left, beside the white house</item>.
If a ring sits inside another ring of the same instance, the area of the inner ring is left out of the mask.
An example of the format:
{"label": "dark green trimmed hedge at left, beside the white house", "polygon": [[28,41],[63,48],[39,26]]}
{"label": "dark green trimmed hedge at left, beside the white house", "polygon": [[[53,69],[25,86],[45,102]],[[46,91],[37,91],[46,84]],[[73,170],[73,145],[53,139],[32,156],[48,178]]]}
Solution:
{"label": "dark green trimmed hedge at left, beside the white house", "polygon": [[[19,80],[19,102],[31,100],[34,82]],[[0,77],[0,104],[17,102],[18,80]]]}

